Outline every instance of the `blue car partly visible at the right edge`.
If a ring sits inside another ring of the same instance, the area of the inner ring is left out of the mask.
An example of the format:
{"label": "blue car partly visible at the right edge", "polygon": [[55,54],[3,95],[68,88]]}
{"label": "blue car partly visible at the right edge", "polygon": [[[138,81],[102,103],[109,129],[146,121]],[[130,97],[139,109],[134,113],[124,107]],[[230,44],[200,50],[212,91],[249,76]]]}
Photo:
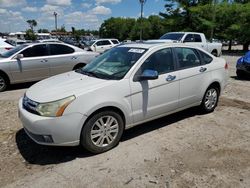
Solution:
{"label": "blue car partly visible at the right edge", "polygon": [[246,78],[250,75],[250,51],[238,59],[236,64],[236,74],[238,78]]}

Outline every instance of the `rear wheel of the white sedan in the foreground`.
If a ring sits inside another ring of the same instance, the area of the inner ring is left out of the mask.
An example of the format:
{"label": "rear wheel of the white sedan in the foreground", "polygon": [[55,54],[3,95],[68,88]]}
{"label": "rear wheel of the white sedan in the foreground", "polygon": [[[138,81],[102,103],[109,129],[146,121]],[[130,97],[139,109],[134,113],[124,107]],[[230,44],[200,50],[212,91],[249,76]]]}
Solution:
{"label": "rear wheel of the white sedan in the foreground", "polygon": [[210,86],[203,97],[200,105],[201,109],[205,113],[213,112],[216,108],[219,100],[219,89],[215,86]]}

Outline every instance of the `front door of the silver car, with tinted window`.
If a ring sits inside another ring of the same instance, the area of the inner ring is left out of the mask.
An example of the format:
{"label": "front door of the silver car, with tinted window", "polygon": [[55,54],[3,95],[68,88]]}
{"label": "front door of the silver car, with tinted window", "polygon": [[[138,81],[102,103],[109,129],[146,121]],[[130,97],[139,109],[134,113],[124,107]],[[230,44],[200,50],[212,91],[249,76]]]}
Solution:
{"label": "front door of the silver car, with tinted window", "polygon": [[36,81],[49,77],[48,48],[38,44],[21,51],[21,59],[10,63],[11,74],[15,82]]}

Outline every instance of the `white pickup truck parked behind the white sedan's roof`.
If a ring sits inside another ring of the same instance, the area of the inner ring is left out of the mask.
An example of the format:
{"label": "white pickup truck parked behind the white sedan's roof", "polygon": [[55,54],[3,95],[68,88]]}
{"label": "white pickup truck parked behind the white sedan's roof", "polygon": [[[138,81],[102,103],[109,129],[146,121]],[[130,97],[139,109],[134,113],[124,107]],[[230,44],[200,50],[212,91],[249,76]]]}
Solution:
{"label": "white pickup truck parked behind the white sedan's roof", "polygon": [[208,42],[203,33],[170,32],[164,34],[158,41],[187,43],[188,45],[194,45],[203,48],[214,56],[220,56],[222,50],[221,43]]}

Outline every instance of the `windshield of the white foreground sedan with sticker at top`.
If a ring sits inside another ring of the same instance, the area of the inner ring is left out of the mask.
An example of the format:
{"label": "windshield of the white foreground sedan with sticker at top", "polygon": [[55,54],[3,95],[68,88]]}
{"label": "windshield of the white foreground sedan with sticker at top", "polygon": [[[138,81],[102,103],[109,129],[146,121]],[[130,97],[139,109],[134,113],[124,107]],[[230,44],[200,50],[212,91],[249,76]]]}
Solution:
{"label": "windshield of the white foreground sedan with sticker at top", "polygon": [[112,48],[77,72],[101,79],[120,80],[146,51],[144,48]]}

